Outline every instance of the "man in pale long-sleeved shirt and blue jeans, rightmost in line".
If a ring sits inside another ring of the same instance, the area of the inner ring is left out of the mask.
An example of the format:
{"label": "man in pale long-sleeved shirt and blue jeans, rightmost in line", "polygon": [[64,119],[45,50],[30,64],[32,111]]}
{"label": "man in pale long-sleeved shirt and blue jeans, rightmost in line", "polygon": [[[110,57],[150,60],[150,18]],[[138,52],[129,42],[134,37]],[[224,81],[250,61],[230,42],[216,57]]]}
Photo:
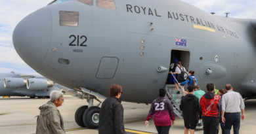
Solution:
{"label": "man in pale long-sleeved shirt and blue jeans, rightmost in line", "polygon": [[[240,93],[234,92],[230,84],[226,84],[226,94],[222,98],[221,118],[225,124],[226,134],[230,134],[231,127],[234,128],[234,134],[239,134],[240,118],[244,120],[244,100]],[[240,112],[242,114],[240,115]]]}

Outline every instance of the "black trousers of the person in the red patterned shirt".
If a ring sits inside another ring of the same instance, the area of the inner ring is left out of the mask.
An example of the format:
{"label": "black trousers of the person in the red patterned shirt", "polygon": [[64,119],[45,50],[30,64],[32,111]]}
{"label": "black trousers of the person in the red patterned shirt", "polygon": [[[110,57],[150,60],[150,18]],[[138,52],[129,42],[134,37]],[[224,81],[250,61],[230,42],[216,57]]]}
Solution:
{"label": "black trousers of the person in the red patterned shirt", "polygon": [[219,130],[219,117],[203,116],[203,132],[217,134]]}

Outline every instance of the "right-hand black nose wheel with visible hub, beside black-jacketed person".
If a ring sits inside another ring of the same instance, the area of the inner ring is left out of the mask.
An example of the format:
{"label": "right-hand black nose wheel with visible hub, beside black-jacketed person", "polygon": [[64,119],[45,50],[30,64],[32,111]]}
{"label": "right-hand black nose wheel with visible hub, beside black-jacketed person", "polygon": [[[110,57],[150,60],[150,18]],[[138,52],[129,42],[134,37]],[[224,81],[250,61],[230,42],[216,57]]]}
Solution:
{"label": "right-hand black nose wheel with visible hub, beside black-jacketed person", "polygon": [[83,123],[90,129],[98,128],[98,121],[100,120],[100,108],[89,107],[83,113]]}

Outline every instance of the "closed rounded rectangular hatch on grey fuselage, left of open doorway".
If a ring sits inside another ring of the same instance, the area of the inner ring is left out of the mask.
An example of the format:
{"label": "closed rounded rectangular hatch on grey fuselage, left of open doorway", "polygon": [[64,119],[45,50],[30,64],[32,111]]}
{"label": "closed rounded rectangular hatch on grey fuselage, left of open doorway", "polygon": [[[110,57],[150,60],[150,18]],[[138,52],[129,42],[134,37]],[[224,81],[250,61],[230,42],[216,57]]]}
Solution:
{"label": "closed rounded rectangular hatch on grey fuselage, left of open doorway", "polygon": [[103,57],[100,59],[100,65],[96,73],[96,78],[112,79],[116,74],[118,58]]}

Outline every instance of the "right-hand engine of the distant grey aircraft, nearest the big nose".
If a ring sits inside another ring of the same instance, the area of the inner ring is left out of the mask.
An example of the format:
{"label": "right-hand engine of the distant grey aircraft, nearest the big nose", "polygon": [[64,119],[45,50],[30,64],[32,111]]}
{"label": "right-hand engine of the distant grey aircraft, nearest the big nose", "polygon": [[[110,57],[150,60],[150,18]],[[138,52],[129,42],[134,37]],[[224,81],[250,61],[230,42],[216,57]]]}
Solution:
{"label": "right-hand engine of the distant grey aircraft, nearest the big nose", "polygon": [[28,78],[27,88],[28,90],[45,90],[53,86],[53,82],[41,78]]}

